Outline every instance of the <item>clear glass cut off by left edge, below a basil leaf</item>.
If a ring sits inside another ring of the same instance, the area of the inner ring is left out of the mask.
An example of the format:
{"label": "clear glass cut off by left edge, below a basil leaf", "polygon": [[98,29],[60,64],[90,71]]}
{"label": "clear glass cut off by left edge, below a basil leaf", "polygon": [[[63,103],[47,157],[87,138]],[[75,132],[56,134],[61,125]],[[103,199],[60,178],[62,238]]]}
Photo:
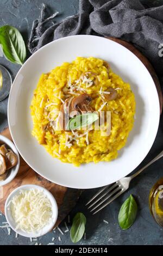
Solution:
{"label": "clear glass cut off by left edge, below a basil leaf", "polygon": [[0,101],[9,95],[11,84],[12,78],[9,71],[0,65]]}

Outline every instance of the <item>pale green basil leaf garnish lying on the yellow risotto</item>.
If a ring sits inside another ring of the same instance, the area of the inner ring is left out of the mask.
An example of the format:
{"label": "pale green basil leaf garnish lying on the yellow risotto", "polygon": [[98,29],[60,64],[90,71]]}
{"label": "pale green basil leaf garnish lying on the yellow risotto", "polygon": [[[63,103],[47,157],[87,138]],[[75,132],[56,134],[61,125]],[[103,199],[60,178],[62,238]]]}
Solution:
{"label": "pale green basil leaf garnish lying on the yellow risotto", "polygon": [[77,115],[71,118],[67,123],[67,130],[76,130],[81,127],[89,126],[93,124],[98,119],[98,115],[95,113],[87,113]]}

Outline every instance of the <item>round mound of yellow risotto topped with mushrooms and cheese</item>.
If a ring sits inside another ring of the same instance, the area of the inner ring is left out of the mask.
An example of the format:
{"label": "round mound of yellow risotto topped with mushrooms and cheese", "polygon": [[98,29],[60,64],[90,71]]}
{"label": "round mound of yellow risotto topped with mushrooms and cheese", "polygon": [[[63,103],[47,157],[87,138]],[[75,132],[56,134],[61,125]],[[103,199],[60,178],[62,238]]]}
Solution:
{"label": "round mound of yellow risotto topped with mushrooms and cheese", "polygon": [[[111,113],[103,129],[68,129],[62,112],[69,107],[70,120],[84,111]],[[32,135],[49,154],[62,162],[82,163],[116,159],[127,142],[134,123],[135,97],[129,83],[112,72],[108,63],[98,58],[77,57],[42,74],[30,106]],[[105,129],[110,126],[110,133]]]}

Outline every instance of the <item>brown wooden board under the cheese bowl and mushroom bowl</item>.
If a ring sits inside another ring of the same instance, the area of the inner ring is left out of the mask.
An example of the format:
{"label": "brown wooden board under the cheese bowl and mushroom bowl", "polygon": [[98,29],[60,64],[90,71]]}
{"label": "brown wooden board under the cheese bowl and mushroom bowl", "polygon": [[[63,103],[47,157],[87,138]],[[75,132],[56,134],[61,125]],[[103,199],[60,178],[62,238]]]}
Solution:
{"label": "brown wooden board under the cheese bowl and mushroom bowl", "polygon": [[[9,128],[5,129],[1,135],[11,139]],[[1,197],[0,197],[0,210],[4,214],[4,204],[5,200],[9,194],[16,188],[24,184],[35,184],[47,188],[55,199],[57,200],[59,215],[56,226],[60,224],[62,220],[68,215],[68,213],[76,205],[82,190],[77,190],[73,188],[63,187],[57,184],[54,184],[51,181],[46,180],[39,174],[37,174],[20,156],[20,169],[14,180],[9,184],[1,188]]]}

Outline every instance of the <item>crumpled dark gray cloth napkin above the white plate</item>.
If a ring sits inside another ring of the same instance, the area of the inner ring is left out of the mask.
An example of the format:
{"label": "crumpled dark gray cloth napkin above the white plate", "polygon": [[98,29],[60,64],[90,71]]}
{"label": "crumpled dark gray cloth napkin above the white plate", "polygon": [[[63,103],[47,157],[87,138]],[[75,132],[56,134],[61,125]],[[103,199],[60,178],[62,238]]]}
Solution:
{"label": "crumpled dark gray cloth napkin above the white plate", "polygon": [[28,42],[31,53],[68,35],[113,36],[132,42],[163,77],[163,5],[146,9],[139,0],[80,0],[78,14],[55,23],[57,14],[46,17],[42,4]]}

